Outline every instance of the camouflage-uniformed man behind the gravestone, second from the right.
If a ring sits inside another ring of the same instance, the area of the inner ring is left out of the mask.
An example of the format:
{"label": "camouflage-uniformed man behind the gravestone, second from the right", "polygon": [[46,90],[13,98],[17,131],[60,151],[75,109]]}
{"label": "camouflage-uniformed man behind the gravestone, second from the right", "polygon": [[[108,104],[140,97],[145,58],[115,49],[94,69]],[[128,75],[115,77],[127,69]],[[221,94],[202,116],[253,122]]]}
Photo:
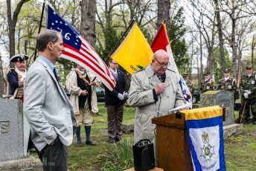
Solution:
{"label": "camouflage-uniformed man behind the gravestone, second from the right", "polygon": [[[218,84],[218,89],[220,90],[226,90],[231,92],[237,92],[237,80],[230,77],[230,70],[225,69],[223,73],[223,78],[220,79],[220,82]],[[234,97],[234,102],[236,101],[236,97]]]}

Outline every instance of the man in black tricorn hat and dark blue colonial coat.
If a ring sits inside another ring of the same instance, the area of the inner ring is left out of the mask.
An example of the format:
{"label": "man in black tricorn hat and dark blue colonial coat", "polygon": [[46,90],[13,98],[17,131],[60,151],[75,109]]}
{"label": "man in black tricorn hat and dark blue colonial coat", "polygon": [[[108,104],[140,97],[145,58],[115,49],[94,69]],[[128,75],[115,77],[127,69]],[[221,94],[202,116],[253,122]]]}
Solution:
{"label": "man in black tricorn hat and dark blue colonial coat", "polygon": [[16,54],[10,59],[10,62],[15,62],[15,69],[10,69],[7,80],[10,84],[10,95],[13,95],[14,99],[20,99],[23,95],[23,85],[27,74],[27,59],[28,56],[25,54]]}

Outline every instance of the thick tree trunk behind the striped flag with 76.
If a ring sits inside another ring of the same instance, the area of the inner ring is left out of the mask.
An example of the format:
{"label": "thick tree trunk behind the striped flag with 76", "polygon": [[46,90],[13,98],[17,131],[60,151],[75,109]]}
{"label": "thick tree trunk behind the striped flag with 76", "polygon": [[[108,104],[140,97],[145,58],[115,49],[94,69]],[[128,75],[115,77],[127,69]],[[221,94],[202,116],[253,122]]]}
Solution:
{"label": "thick tree trunk behind the striped flag with 76", "polygon": [[81,7],[81,30],[80,33],[95,48],[96,30],[95,30],[96,0],[83,0]]}

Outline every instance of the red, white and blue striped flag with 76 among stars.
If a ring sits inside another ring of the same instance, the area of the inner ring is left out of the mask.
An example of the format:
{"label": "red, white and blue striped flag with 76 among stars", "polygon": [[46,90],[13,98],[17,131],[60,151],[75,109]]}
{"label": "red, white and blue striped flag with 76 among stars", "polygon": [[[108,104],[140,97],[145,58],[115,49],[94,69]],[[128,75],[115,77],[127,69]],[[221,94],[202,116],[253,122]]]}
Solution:
{"label": "red, white and blue striped flag with 76 among stars", "polygon": [[47,29],[57,30],[63,35],[63,46],[65,51],[61,55],[78,65],[83,66],[95,75],[110,91],[115,88],[115,77],[109,68],[92,48],[92,46],[77,32],[68,22],[59,16],[48,5]]}

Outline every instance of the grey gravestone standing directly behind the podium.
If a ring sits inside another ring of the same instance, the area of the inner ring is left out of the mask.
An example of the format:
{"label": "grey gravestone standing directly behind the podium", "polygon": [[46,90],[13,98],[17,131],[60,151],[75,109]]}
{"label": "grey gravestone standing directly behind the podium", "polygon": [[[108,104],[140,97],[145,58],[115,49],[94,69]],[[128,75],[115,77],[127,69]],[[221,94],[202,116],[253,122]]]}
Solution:
{"label": "grey gravestone standing directly behind the podium", "polygon": [[230,91],[206,91],[200,95],[200,107],[225,107],[225,121],[223,126],[234,123],[234,93]]}

